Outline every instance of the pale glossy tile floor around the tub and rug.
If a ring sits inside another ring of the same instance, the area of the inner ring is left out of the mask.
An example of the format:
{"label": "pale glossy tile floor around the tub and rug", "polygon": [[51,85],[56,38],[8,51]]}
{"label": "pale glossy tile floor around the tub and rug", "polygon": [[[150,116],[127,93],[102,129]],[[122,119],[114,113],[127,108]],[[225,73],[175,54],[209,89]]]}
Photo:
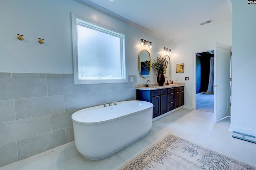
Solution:
{"label": "pale glossy tile floor around the tub and rug", "polygon": [[256,144],[232,138],[229,126],[229,117],[214,123],[214,113],[182,108],[154,121],[146,136],[104,159],[87,160],[70,142],[0,170],[117,170],[169,133],[256,166]]}

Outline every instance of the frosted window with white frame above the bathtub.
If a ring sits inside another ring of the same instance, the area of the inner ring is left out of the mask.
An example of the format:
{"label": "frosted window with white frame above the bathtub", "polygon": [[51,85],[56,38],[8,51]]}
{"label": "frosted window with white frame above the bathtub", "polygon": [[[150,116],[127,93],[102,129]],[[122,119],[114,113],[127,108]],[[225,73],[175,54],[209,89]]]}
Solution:
{"label": "frosted window with white frame above the bathtub", "polygon": [[124,34],[72,14],[74,83],[128,82]]}

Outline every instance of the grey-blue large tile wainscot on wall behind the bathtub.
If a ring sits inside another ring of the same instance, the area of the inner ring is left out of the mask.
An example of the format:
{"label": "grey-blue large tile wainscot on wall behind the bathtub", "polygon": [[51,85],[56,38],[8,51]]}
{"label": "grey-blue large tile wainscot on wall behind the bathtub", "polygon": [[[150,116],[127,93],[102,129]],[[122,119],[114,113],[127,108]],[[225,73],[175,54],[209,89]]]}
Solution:
{"label": "grey-blue large tile wainscot on wall behind the bathtub", "polygon": [[132,83],[74,85],[73,74],[0,73],[0,167],[72,142],[71,115],[135,99]]}

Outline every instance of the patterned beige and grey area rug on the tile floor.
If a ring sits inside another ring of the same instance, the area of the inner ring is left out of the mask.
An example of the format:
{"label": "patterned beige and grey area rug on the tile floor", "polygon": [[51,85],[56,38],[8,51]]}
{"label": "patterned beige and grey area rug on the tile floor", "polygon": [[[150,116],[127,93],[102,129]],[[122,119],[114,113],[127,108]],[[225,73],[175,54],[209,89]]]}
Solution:
{"label": "patterned beige and grey area rug on the tile floor", "polygon": [[256,170],[256,167],[169,134],[120,170]]}

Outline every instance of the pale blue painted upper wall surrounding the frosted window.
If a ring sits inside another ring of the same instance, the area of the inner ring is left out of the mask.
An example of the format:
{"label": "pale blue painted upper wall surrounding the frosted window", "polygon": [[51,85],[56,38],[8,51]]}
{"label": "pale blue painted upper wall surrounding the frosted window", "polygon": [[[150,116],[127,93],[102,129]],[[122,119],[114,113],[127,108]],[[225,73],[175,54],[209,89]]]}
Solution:
{"label": "pale blue painted upper wall surrounding the frosted window", "polygon": [[[1,0],[0,72],[73,73],[71,12],[121,31],[126,36],[128,75],[137,75],[140,38],[152,42],[152,59],[170,43],[75,0]],[[24,35],[24,40],[16,34]],[[44,44],[38,43],[44,39]],[[100,47],[99,47],[100,48]],[[156,74],[149,77],[156,82]]]}

